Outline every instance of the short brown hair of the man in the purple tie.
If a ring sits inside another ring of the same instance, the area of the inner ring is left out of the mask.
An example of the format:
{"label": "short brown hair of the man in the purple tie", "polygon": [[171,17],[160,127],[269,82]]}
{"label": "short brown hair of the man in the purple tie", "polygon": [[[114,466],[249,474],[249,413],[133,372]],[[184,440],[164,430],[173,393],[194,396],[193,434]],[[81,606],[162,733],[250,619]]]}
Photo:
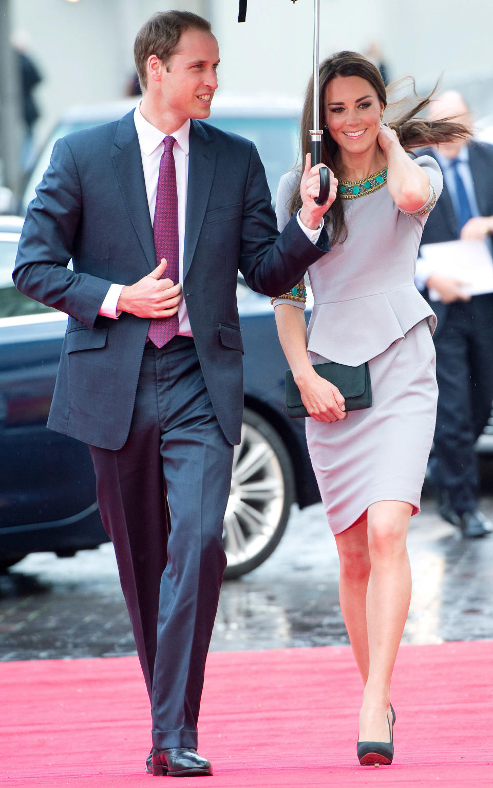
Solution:
{"label": "short brown hair of the man in the purple tie", "polygon": [[186,30],[209,33],[210,22],[191,11],[158,11],[144,22],[134,43],[135,68],[143,93],[147,87],[146,65],[150,55],[155,54],[166,65]]}

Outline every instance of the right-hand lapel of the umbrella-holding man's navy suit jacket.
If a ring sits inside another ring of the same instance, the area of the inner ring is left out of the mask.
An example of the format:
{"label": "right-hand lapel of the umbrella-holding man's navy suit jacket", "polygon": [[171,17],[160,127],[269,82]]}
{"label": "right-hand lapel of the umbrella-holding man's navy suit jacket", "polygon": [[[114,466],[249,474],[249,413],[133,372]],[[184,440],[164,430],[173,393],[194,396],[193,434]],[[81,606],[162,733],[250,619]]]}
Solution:
{"label": "right-hand lapel of the umbrella-holding man's navy suit jacket", "polygon": [[202,229],[216,169],[217,151],[206,125],[191,121],[188,162],[187,217],[183,249],[183,280],[187,276]]}

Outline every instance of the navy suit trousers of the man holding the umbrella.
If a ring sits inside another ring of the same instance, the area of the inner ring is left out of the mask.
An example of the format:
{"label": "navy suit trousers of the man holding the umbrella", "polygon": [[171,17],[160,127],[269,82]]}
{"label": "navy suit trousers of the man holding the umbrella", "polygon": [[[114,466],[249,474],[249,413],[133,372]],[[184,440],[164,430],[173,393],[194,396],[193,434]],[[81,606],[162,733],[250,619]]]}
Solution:
{"label": "navy suit trousers of the man holding the umbrella", "polygon": [[193,340],[146,345],[127,442],[117,452],[90,450],[151,698],[154,747],[196,748],[226,566],[233,448],[217,423]]}

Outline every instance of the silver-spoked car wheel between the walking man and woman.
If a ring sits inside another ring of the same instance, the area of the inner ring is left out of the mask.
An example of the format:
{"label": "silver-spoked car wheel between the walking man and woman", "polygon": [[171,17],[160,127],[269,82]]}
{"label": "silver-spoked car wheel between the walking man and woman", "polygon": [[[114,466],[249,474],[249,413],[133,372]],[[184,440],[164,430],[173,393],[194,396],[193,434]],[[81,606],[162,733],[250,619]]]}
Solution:
{"label": "silver-spoked car wheel between the walking man and woman", "polygon": [[224,515],[224,578],[239,578],[270,556],[286,530],[294,489],[291,458],[279,434],[245,408]]}

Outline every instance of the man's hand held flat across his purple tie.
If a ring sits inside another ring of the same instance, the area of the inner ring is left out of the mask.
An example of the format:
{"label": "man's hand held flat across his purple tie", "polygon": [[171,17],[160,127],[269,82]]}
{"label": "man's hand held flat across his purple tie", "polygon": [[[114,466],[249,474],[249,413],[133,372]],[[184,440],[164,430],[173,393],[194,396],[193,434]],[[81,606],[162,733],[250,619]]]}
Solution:
{"label": "man's hand held flat across his purple tie", "polygon": [[171,279],[161,279],[166,265],[163,258],[146,277],[124,287],[117,311],[130,312],[138,318],[169,318],[176,314],[183,298],[182,287],[180,283],[173,284]]}

